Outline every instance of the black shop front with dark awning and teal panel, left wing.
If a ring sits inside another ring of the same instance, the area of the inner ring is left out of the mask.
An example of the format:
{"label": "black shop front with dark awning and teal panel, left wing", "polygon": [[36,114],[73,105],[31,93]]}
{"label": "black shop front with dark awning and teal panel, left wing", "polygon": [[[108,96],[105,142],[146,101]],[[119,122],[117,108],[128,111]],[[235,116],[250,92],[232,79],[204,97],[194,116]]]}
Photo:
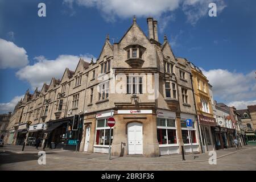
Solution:
{"label": "black shop front with dark awning and teal panel, left wing", "polygon": [[82,135],[82,115],[75,115],[48,122],[47,129],[42,130],[43,144],[48,148],[77,150]]}

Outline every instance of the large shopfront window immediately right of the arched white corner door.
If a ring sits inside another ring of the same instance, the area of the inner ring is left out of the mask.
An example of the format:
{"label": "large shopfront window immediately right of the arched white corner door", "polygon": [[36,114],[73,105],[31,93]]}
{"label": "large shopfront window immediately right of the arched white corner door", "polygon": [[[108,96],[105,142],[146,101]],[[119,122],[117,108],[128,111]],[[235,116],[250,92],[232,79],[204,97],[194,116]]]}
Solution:
{"label": "large shopfront window immediately right of the arched white corner door", "polygon": [[156,125],[159,144],[177,143],[175,119],[157,118]]}

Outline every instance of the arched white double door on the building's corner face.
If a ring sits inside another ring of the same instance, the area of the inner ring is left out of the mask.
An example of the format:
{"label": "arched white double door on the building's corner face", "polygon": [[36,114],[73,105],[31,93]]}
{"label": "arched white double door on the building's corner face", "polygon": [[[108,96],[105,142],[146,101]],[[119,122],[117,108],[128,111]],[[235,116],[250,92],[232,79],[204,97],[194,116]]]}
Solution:
{"label": "arched white double door on the building's corner face", "polygon": [[142,154],[142,124],[129,123],[127,128],[128,154]]}

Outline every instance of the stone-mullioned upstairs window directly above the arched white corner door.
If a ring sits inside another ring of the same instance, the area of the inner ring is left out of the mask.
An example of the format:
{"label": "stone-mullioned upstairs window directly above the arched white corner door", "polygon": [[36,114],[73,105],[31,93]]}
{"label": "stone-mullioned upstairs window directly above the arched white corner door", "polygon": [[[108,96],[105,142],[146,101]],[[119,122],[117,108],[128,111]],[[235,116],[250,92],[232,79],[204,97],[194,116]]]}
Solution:
{"label": "stone-mullioned upstairs window directly above the arched white corner door", "polygon": [[139,76],[127,76],[127,94],[142,94],[142,80],[143,78]]}

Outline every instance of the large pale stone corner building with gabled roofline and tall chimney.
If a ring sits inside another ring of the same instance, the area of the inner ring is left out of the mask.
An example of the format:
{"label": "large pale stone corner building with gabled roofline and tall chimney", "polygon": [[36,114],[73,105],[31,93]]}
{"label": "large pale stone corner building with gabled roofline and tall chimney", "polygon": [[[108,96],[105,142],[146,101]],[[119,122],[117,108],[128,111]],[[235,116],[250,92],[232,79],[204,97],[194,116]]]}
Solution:
{"label": "large pale stone corner building with gabled roofline and tall chimney", "polygon": [[[96,61],[80,59],[75,71],[67,68],[60,80],[27,91],[6,143],[32,145],[40,137],[46,147],[108,153],[111,142],[115,156],[180,154],[181,146],[201,152],[189,62],[175,57],[166,36],[159,42],[156,20],[147,18],[147,24],[148,36],[134,17],[118,43],[106,36]],[[106,121],[112,115],[110,138]],[[193,119],[191,134],[187,118]]]}

